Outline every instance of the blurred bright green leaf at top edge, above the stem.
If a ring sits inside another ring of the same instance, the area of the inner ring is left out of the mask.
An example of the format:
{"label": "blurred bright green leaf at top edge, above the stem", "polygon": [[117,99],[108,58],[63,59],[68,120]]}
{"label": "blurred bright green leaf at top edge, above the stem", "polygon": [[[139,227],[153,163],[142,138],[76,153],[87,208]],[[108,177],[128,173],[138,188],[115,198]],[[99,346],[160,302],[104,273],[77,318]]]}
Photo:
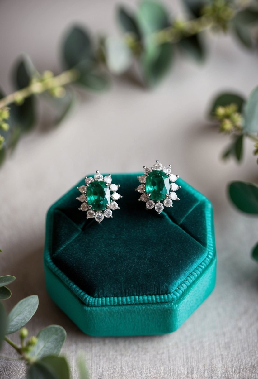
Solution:
{"label": "blurred bright green leaf at top edge, above the stem", "polygon": [[144,34],[151,34],[170,25],[165,7],[153,0],[143,0],[140,3],[137,20]]}

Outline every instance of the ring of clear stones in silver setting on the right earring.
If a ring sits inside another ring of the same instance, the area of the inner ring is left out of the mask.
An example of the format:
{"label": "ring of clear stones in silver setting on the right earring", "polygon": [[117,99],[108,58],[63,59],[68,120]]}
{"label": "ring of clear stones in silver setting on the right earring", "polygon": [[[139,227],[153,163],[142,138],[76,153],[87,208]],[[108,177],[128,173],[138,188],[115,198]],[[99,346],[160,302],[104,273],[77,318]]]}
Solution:
{"label": "ring of clear stones in silver setting on the right earring", "polygon": [[[140,185],[135,188],[135,191],[141,193],[139,201],[146,202],[146,210],[154,208],[156,212],[160,213],[164,210],[165,207],[173,208],[173,201],[179,200],[177,197],[176,191],[181,188],[175,182],[179,178],[179,175],[171,174],[171,164],[169,166],[163,166],[158,160],[152,167],[143,166],[144,174],[137,176],[137,179],[140,182]],[[163,200],[152,200],[150,198],[151,194],[146,193],[146,178],[149,176],[149,173],[152,171],[163,171],[169,178],[169,186],[171,192],[166,195]]]}

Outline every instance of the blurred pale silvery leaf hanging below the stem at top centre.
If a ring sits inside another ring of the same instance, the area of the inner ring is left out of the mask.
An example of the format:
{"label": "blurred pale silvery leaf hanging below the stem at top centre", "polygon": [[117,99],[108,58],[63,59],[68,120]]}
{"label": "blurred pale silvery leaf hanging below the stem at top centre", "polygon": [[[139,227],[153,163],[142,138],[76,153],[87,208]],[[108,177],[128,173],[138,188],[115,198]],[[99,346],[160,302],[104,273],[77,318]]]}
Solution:
{"label": "blurred pale silvery leaf hanging below the stem at top centre", "polygon": [[109,37],[105,40],[106,64],[113,74],[122,74],[132,63],[132,53],[122,39]]}

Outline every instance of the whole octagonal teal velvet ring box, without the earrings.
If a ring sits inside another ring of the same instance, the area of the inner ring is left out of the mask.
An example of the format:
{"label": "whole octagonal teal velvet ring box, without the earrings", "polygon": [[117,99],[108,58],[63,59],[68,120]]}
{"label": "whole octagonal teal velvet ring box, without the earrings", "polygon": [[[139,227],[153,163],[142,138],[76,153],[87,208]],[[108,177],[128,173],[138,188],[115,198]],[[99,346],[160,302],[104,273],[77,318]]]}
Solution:
{"label": "whole octagonal teal velvet ring box, without the earrings", "polygon": [[89,335],[173,332],[215,285],[211,203],[178,179],[180,201],[158,215],[138,201],[137,174],[112,182],[120,184],[120,210],[100,225],[78,210],[83,180],[48,211],[47,291]]}

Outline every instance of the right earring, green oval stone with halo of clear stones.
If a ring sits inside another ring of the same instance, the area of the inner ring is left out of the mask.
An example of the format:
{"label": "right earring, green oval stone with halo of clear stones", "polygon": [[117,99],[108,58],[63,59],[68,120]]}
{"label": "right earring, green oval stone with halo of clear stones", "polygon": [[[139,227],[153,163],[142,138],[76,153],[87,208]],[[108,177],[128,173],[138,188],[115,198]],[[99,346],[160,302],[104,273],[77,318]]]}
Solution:
{"label": "right earring, green oval stone with halo of clear stones", "polygon": [[135,188],[135,191],[141,193],[138,200],[146,202],[146,209],[155,208],[160,215],[164,206],[172,208],[172,200],[179,200],[175,193],[181,188],[175,183],[179,176],[171,174],[171,164],[162,166],[159,161],[153,167],[143,166],[143,169],[144,175],[137,176],[141,184]]}

